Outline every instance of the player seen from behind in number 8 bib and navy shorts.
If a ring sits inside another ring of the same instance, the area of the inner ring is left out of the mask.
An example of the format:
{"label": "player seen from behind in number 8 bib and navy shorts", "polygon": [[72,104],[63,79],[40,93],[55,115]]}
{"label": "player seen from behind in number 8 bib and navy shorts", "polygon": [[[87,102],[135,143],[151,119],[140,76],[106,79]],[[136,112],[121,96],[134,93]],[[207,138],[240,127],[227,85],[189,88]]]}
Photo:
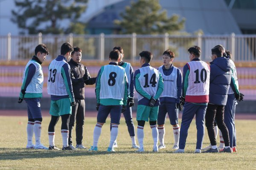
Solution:
{"label": "player seen from behind in number 8 bib and navy shorts", "polygon": [[93,131],[93,146],[89,150],[98,150],[102,126],[110,113],[112,129],[107,151],[115,152],[113,144],[118,134],[121,113],[126,110],[128,96],[128,80],[125,69],[118,65],[120,57],[121,54],[118,50],[112,50],[109,54],[110,63],[102,66],[99,70],[95,89],[98,115]]}

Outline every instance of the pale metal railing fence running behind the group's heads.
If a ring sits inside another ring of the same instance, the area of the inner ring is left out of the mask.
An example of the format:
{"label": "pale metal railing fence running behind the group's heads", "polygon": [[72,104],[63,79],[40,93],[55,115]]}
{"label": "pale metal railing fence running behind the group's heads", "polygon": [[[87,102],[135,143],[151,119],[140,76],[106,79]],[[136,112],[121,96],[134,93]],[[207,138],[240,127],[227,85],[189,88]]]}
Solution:
{"label": "pale metal railing fence running behind the group's heads", "polygon": [[126,59],[137,60],[141,51],[151,51],[154,59],[160,60],[163,51],[175,52],[176,61],[187,61],[187,49],[191,45],[202,48],[201,59],[209,61],[211,48],[222,44],[232,52],[233,60],[256,61],[256,35],[24,35],[0,36],[0,60],[22,60],[34,55],[35,46],[44,43],[49,49],[48,60],[60,53],[64,42],[82,49],[83,59],[108,60],[108,54],[116,46],[122,46]]}

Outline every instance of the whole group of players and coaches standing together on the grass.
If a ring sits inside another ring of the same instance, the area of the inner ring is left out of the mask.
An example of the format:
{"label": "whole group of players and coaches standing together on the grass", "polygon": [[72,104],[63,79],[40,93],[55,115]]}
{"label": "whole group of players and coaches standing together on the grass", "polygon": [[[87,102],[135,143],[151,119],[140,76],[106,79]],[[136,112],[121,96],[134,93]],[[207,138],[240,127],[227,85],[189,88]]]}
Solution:
{"label": "whole group of players and coaches standing together on the grass", "polygon": [[[84,125],[84,84],[96,83],[97,123],[93,131],[93,145],[89,150],[97,151],[101,129],[108,115],[111,117],[111,139],[107,151],[115,151],[121,113],[124,114],[132,147],[137,152],[144,152],[144,125],[149,121],[153,152],[166,148],[164,144],[165,120],[167,113],[173,126],[174,153],[184,153],[189,125],[195,116],[197,127],[197,144],[195,153],[201,153],[206,122],[210,146],[204,152],[236,151],[236,130],[234,123],[236,100],[241,101],[236,67],[229,51],[222,45],[212,48],[210,66],[201,61],[201,48],[192,46],[188,49],[190,62],[180,69],[172,62],[175,54],[163,52],[163,65],[158,69],[151,67],[152,54],[142,51],[140,68],[133,71],[130,63],[124,62],[123,49],[116,46],[109,54],[109,64],[99,70],[97,77],[91,78],[87,68],[81,64],[81,49],[72,47],[68,42],[61,46],[61,54],[52,60],[48,67],[47,91],[51,95],[48,127],[49,147],[41,144],[41,106],[43,89],[42,62],[48,55],[44,44],[35,48],[35,55],[27,63],[20,91],[19,103],[23,99],[28,108],[27,149],[60,150],[55,146],[55,125],[61,116],[62,150],[86,149],[82,145]],[[70,61],[68,59],[71,57]],[[211,71],[210,71],[211,70]],[[138,94],[137,138],[132,120],[131,107],[134,106],[134,88]],[[227,104],[227,105],[226,105]],[[178,124],[178,110],[183,110],[182,122]],[[225,113],[224,113],[225,111]],[[76,147],[72,144],[72,129],[76,120]],[[216,136],[222,132],[221,144],[217,148]],[[227,125],[227,126],[226,126]],[[35,133],[35,145],[32,142]],[[223,142],[224,139],[224,142]],[[158,140],[160,144],[158,144]],[[232,149],[233,148],[233,149]]]}

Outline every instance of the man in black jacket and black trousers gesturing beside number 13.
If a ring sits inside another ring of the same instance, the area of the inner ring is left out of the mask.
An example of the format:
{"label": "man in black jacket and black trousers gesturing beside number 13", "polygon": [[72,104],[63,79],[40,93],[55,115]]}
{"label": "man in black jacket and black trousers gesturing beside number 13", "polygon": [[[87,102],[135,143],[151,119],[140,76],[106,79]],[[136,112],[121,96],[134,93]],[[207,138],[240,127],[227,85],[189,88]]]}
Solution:
{"label": "man in black jacket and black trousers gesturing beside number 13", "polygon": [[74,51],[71,53],[72,58],[68,62],[71,68],[70,77],[76,100],[76,105],[72,106],[72,115],[70,116],[68,144],[70,147],[75,148],[72,145],[72,129],[76,119],[76,148],[86,149],[82,145],[85,112],[84,83],[86,85],[93,85],[96,82],[96,77],[91,78],[87,68],[80,63],[81,55],[82,50],[78,47],[74,47]]}

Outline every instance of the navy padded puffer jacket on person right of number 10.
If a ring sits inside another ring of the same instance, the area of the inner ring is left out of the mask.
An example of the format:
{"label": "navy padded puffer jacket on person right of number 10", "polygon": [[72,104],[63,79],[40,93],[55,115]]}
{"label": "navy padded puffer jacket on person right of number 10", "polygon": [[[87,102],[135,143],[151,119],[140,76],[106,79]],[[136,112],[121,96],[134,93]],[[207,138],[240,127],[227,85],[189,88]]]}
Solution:
{"label": "navy padded puffer jacket on person right of number 10", "polygon": [[226,105],[232,77],[230,59],[218,57],[210,62],[209,103]]}

